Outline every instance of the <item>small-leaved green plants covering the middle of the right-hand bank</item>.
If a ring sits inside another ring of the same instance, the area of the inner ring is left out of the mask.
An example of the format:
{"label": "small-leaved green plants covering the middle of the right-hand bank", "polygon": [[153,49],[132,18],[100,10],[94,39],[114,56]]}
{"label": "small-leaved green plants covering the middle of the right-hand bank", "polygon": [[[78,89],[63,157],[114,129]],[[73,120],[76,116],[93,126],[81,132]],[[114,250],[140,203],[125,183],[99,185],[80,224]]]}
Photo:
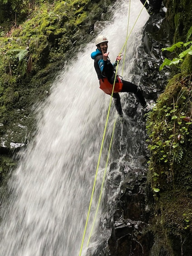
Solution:
{"label": "small-leaved green plants covering the middle of the right-hand bank", "polygon": [[[192,125],[188,111],[192,108],[192,96],[187,87],[175,85],[172,96],[162,96],[156,107],[149,113],[147,131],[149,135],[149,170],[155,193],[163,188],[163,180],[173,180],[174,167],[180,164],[186,152]],[[177,89],[176,89],[177,88]],[[171,93],[169,89],[169,94]]]}

